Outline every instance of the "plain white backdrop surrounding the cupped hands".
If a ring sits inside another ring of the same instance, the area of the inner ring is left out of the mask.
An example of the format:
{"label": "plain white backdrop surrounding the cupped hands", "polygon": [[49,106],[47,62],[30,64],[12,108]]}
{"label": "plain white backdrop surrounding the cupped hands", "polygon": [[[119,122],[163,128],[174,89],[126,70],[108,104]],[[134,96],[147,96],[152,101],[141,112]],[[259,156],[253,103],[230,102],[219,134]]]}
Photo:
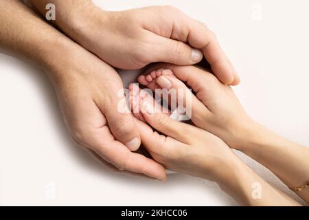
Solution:
{"label": "plain white backdrop surrounding the cupped hands", "polygon": [[[309,146],[308,1],[95,2],[106,10],[170,4],[207,23],[238,69],[235,91],[249,114]],[[102,168],[71,141],[45,74],[3,54],[0,100],[1,205],[236,205],[203,179],[174,174],[161,183]],[[288,192],[260,164],[242,159]]]}

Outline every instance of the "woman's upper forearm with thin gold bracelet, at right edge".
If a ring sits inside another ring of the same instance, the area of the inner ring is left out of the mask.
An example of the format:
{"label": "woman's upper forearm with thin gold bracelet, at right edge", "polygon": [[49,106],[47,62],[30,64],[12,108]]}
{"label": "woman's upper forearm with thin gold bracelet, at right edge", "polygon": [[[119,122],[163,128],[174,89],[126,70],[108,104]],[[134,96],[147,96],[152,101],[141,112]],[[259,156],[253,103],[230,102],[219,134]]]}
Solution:
{"label": "woman's upper forearm with thin gold bracelet, at right edge", "polygon": [[[309,148],[285,140],[260,124],[253,124],[244,153],[269,168],[289,187],[309,180]],[[309,202],[309,188],[297,192]]]}

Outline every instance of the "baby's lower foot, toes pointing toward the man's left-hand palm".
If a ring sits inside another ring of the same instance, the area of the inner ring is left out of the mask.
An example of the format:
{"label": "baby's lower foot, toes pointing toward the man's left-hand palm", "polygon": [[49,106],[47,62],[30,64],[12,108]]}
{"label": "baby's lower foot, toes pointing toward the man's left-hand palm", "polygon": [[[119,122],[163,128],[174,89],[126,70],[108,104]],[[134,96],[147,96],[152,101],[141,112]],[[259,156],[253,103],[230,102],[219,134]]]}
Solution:
{"label": "baby's lower foot, toes pointing toward the man's left-hand palm", "polygon": [[143,104],[144,102],[148,102],[150,103],[150,106],[154,107],[154,109],[151,109],[151,111],[162,112],[170,116],[171,114],[170,111],[167,108],[161,106],[161,104],[159,104],[159,102],[157,102],[152,97],[152,95],[150,95],[144,89],[140,89],[136,84],[133,83],[129,85],[129,89],[130,89],[130,96],[129,96],[130,108],[135,118],[143,122],[146,122],[141,112],[141,104]]}

